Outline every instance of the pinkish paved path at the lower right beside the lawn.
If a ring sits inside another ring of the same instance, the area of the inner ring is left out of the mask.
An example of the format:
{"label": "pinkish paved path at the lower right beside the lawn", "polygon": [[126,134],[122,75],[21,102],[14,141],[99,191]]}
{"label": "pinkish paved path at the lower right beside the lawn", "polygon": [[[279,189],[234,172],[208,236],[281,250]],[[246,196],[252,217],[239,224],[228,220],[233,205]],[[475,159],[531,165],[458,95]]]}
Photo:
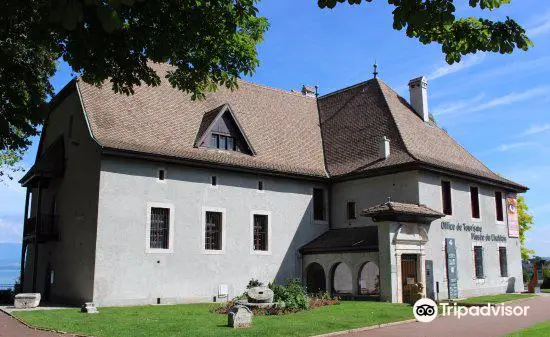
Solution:
{"label": "pinkish paved path at the lower right beside the lawn", "polygon": [[[515,301],[510,306],[529,306],[527,317],[438,317],[431,323],[407,323],[346,334],[350,337],[498,337],[550,320],[550,296]],[[548,331],[550,336],[550,331]]]}

